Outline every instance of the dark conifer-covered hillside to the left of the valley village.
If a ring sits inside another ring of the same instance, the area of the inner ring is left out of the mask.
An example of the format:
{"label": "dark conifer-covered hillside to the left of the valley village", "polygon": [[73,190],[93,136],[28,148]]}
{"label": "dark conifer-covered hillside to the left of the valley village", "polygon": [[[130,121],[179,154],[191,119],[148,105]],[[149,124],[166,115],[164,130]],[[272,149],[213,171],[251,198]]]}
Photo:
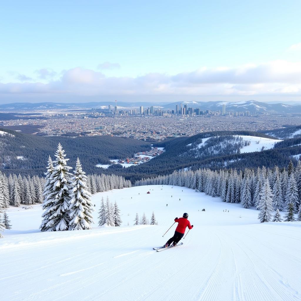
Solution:
{"label": "dark conifer-covered hillside to the left of the valley village", "polygon": [[[36,136],[1,129],[14,135],[0,135],[0,164],[3,173],[43,176],[49,154],[52,154],[60,142],[75,166],[77,157],[81,158],[83,169],[88,174],[101,174],[96,164],[110,164],[109,159],[133,157],[140,151],[148,151],[151,144],[128,138],[95,136],[95,137],[62,137]],[[19,159],[17,158],[19,157]],[[20,158],[22,157],[22,158]]]}

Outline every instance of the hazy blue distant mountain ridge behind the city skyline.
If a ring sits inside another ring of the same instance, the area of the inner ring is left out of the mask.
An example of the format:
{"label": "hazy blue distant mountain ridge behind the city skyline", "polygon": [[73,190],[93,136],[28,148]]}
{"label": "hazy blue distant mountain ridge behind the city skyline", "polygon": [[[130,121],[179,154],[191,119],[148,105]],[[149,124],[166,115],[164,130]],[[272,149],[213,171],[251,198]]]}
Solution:
{"label": "hazy blue distant mountain ridge behind the city skyline", "polygon": [[[226,112],[237,112],[237,111],[250,111],[258,113],[301,113],[301,104],[271,104],[259,101],[178,101],[174,103],[152,103],[152,102],[119,102],[117,106],[122,108],[138,108],[140,106],[145,107],[161,107],[163,110],[175,110],[176,105],[184,106],[187,104],[188,107],[200,108],[200,110],[222,110],[222,105],[225,104]],[[115,106],[114,101],[101,101],[101,102],[87,102],[87,103],[55,103],[55,102],[42,102],[42,103],[12,103],[12,104],[1,104],[0,110],[2,111],[21,111],[21,110],[55,110],[55,109],[92,109],[100,108],[105,109],[109,105]]]}

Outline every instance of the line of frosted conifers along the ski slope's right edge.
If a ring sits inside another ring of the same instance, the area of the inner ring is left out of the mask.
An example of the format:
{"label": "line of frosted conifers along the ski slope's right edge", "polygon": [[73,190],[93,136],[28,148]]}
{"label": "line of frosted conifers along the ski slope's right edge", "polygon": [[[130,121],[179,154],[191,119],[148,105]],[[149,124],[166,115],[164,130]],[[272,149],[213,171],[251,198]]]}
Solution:
{"label": "line of frosted conifers along the ski slope's right edge", "polygon": [[266,169],[265,166],[244,169],[211,170],[208,168],[174,171],[170,175],[144,178],[140,185],[177,185],[204,192],[212,197],[221,197],[223,202],[240,203],[244,208],[260,210],[261,222],[269,222],[275,210],[286,211],[286,221],[301,221],[301,162],[294,167],[292,161],[287,168]]}

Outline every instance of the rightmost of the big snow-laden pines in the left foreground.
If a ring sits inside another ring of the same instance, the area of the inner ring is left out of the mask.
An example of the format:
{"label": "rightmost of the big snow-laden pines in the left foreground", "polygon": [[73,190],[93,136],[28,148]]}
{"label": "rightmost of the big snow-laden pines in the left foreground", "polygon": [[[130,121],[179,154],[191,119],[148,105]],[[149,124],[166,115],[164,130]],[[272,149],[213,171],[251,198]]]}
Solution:
{"label": "rightmost of the big snow-laden pines in the left foreground", "polygon": [[76,160],[74,176],[72,177],[70,197],[69,230],[88,230],[93,223],[91,194],[87,191],[85,172],[79,158]]}

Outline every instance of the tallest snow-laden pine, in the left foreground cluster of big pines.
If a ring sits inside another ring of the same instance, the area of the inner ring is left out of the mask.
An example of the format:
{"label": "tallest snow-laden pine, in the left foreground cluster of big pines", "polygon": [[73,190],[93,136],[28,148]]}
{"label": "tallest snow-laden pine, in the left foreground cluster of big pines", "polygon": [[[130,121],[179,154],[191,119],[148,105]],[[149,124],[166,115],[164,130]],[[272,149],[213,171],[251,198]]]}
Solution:
{"label": "tallest snow-laden pine, in the left foreground cluster of big pines", "polygon": [[[54,163],[54,170],[50,176],[49,194],[45,204],[48,208],[43,214],[43,222],[41,225],[41,231],[65,231],[69,228],[69,207],[70,197],[69,190],[71,189],[72,174],[69,172],[72,167],[67,165],[69,159],[65,159],[66,154],[61,144],[58,144],[57,151],[55,153],[56,160]],[[49,218],[45,220],[45,214]],[[46,225],[46,229],[44,228]],[[43,230],[43,229],[45,230]]]}

